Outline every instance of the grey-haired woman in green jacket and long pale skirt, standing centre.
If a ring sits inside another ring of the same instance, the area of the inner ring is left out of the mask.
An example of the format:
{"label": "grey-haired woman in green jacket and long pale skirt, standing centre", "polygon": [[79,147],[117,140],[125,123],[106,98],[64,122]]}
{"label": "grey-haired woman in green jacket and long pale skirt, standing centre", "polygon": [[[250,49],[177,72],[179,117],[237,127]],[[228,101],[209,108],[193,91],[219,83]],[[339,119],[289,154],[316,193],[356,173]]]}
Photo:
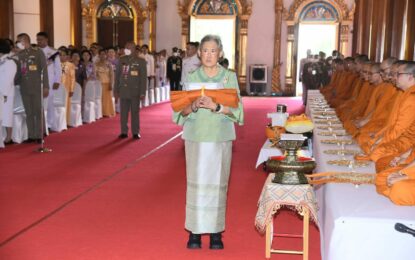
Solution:
{"label": "grey-haired woman in green jacket and long pale skirt, standing centre", "polygon": [[[236,74],[218,64],[222,48],[218,36],[202,39],[198,50],[202,66],[189,74],[184,90],[189,90],[192,83],[205,83],[218,89],[237,89],[239,95]],[[223,249],[234,123],[242,125],[244,120],[240,97],[239,100],[238,107],[231,108],[203,95],[174,113],[173,120],[183,126],[185,140],[185,228],[190,232],[187,248],[201,248],[201,234],[209,234],[210,248]]]}

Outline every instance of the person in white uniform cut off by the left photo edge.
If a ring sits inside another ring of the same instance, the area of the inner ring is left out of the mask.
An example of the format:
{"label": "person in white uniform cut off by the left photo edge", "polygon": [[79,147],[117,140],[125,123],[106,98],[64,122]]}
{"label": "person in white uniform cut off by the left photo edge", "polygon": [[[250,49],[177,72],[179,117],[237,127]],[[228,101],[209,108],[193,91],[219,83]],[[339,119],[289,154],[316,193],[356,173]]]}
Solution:
{"label": "person in white uniform cut off by the left photo edge", "polygon": [[[0,126],[7,130],[5,144],[13,143],[11,130],[13,126],[14,78],[17,71],[16,62],[9,57],[10,49],[9,42],[0,39]],[[3,140],[0,140],[0,143],[2,142]]]}

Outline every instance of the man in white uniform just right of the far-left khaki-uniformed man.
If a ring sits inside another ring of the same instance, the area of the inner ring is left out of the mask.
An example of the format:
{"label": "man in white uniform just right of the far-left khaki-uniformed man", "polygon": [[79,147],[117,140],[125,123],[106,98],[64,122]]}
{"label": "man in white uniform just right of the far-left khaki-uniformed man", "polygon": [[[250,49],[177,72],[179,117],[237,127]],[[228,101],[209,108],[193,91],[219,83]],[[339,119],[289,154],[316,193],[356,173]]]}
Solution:
{"label": "man in white uniform just right of the far-left khaki-uniformed man", "polygon": [[49,46],[49,36],[46,32],[39,32],[36,34],[36,41],[39,48],[42,49],[46,56],[46,62],[48,64],[48,76],[49,86],[52,87],[49,96],[45,98],[45,110],[46,112],[46,125],[48,128],[54,125],[55,113],[53,106],[53,90],[59,88],[59,84],[62,78],[62,66],[59,59],[58,50]]}

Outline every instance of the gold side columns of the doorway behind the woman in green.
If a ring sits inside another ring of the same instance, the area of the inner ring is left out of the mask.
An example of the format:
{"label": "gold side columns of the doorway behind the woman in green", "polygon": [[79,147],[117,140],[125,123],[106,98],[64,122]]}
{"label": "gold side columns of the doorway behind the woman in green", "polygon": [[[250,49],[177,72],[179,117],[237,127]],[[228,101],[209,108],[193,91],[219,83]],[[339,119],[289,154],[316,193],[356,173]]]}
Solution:
{"label": "gold side columns of the doorway behind the woman in green", "polygon": [[[193,6],[197,0],[177,0],[177,9],[182,18],[182,48],[186,47],[186,43],[190,38],[190,16],[192,14]],[[249,0],[235,0],[238,6],[238,36],[236,39],[235,48],[235,70],[238,75],[239,88],[242,94],[246,92],[246,57],[247,57],[247,43],[248,43],[248,21],[252,14],[252,1]]]}

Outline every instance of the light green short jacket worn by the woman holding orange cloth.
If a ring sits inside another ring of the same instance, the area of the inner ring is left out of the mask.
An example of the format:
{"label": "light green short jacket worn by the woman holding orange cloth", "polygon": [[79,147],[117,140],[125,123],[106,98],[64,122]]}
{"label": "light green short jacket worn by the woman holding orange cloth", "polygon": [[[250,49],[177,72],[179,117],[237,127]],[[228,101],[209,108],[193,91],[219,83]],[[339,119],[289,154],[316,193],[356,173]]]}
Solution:
{"label": "light green short jacket worn by the woman holding orange cloth", "polygon": [[218,114],[210,109],[200,108],[196,113],[182,116],[180,112],[173,113],[173,121],[183,126],[182,138],[194,142],[224,142],[235,140],[234,123],[243,125],[244,113],[242,100],[239,94],[238,80],[235,72],[229,71],[222,66],[218,74],[209,78],[202,67],[190,73],[187,77],[189,83],[223,83],[225,88],[238,90],[239,106],[230,108],[232,115]]}

